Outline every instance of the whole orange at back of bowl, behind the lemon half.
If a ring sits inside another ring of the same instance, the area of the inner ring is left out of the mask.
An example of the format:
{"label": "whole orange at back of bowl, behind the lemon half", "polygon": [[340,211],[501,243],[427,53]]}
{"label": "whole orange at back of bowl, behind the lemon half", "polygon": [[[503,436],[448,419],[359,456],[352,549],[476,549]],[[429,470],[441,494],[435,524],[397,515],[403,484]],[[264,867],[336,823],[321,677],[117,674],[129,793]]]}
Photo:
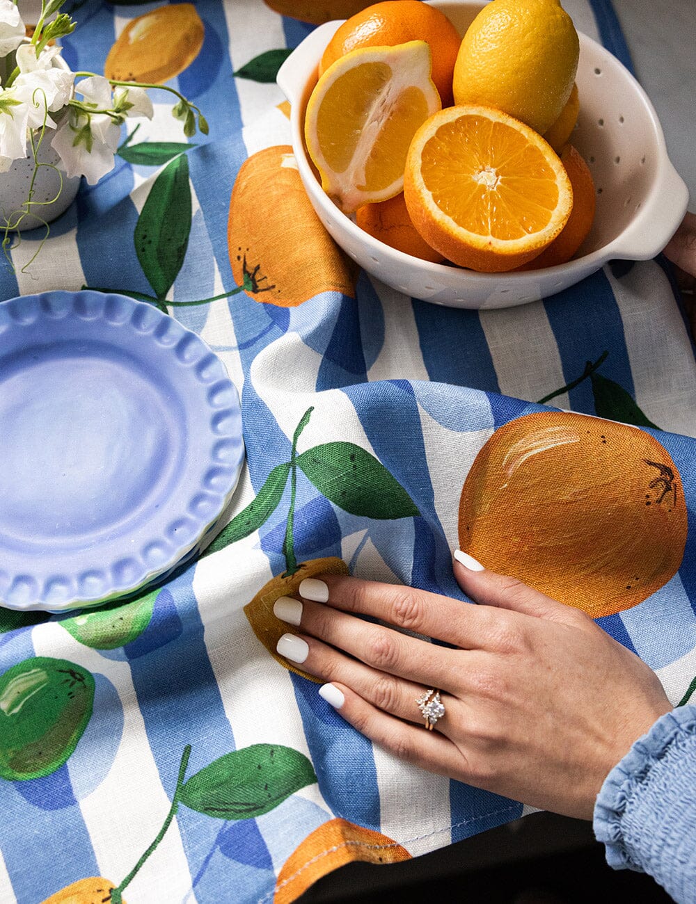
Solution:
{"label": "whole orange at back of bowl, behind the lemon half", "polygon": [[319,61],[319,75],[358,47],[393,47],[408,41],[430,45],[431,78],[443,107],[451,106],[454,63],[462,39],[444,13],[421,0],[385,0],[351,16],[329,41]]}

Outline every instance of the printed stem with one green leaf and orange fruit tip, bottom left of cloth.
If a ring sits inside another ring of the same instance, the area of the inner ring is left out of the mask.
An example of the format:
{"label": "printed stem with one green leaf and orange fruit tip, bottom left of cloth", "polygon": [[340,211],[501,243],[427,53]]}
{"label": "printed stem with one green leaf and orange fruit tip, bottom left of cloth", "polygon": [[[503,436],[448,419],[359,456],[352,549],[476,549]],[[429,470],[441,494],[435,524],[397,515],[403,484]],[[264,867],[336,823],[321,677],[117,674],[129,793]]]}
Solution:
{"label": "printed stem with one green leaf and orange fruit tip, bottom left of cloth", "polygon": [[[252,819],[268,813],[291,795],[317,781],[310,760],[299,750],[280,744],[253,744],[233,750],[200,769],[185,782],[191,745],[186,745],[179,763],[172,803],[154,841],[129,874],[114,885],[101,877],[72,882],[52,894],[43,904],[100,902],[125,904],[123,891],[135,879],[150,855],[157,850],[180,805],[215,819]],[[200,876],[199,876],[200,878]]]}

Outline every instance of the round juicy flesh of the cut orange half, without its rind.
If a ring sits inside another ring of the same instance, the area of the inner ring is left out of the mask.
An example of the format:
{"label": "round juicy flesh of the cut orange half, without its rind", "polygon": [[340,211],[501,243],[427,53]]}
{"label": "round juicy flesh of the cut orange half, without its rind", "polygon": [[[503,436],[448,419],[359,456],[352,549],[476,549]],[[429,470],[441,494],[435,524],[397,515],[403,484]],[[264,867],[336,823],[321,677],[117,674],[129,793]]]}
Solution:
{"label": "round juicy flesh of the cut orange half, without its rind", "polygon": [[488,118],[439,127],[424,145],[421,172],[437,206],[481,236],[514,240],[538,232],[558,205],[556,175],[539,148]]}

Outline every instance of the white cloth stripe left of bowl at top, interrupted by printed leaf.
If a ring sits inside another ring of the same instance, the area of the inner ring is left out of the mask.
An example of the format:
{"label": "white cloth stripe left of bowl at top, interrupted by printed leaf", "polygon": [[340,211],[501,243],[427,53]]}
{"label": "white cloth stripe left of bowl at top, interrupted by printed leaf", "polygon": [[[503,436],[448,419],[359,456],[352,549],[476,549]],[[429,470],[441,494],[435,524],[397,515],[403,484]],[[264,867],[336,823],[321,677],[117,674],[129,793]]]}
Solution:
{"label": "white cloth stripe left of bowl at top, interrupted by printed leaf", "polygon": [[[230,35],[229,53],[233,71],[240,70],[265,51],[285,47],[281,16],[270,7],[261,3],[247,5],[235,0],[234,3],[225,3],[223,9]],[[266,84],[236,78],[234,88],[243,124],[253,122],[259,110],[274,107],[285,99],[275,82]]]}

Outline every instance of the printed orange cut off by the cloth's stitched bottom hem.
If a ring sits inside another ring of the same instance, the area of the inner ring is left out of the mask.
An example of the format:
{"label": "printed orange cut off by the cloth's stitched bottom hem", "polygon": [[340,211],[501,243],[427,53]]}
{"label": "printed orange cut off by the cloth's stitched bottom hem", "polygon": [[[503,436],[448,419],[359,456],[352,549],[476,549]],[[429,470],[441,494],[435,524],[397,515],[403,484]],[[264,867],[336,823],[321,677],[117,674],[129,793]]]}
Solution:
{"label": "printed orange cut off by the cloth's stitched bottom hem", "polygon": [[410,859],[411,854],[386,835],[345,819],[331,819],[310,833],[283,863],[273,904],[290,904],[322,876],[345,863],[397,863]]}

